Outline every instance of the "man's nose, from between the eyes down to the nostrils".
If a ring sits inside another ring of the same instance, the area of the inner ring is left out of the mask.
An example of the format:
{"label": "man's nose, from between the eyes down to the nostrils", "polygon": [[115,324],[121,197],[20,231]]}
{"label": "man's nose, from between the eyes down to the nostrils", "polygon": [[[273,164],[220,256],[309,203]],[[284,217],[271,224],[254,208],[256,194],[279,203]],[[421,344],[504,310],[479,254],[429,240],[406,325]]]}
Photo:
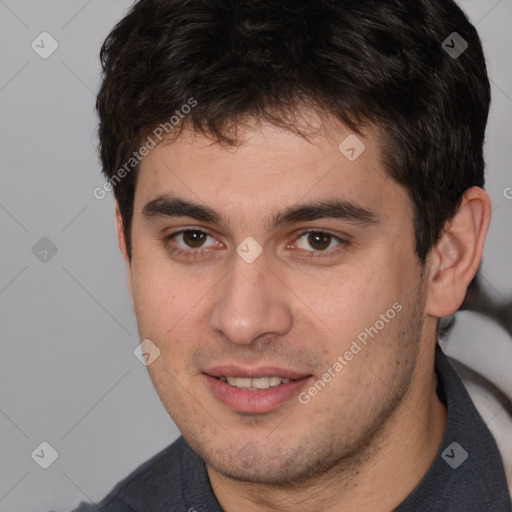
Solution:
{"label": "man's nose, from between the eyes down to the nostrils", "polygon": [[289,332],[293,317],[287,301],[292,294],[267,266],[264,253],[252,263],[238,255],[234,260],[218,287],[210,328],[240,345]]}

